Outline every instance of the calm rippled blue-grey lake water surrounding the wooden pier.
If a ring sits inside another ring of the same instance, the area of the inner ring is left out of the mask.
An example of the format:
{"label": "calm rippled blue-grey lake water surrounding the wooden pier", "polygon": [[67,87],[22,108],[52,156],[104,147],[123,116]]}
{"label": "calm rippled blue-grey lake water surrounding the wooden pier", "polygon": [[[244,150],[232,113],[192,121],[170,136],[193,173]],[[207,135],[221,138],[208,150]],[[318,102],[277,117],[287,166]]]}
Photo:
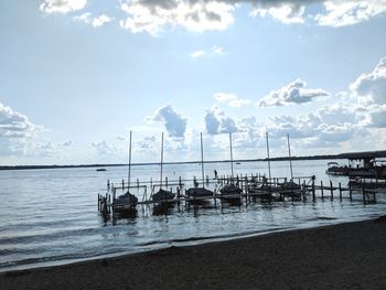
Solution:
{"label": "calm rippled blue-grey lake water surrounding the wooden pier", "polygon": [[[324,174],[328,161],[293,162],[296,176]],[[289,176],[288,162],[272,162],[272,176]],[[213,178],[229,174],[226,163],[205,164]],[[266,173],[265,163],[234,165],[236,173]],[[158,165],[132,167],[132,180],[159,178]],[[201,165],[164,165],[164,176],[201,176]],[[0,171],[0,271],[65,264],[100,256],[138,253],[171,245],[192,245],[275,230],[315,227],[373,218],[385,214],[386,194],[376,204],[354,201],[248,203],[240,206],[207,204],[186,211],[174,206],[159,214],[152,206],[138,206],[129,217],[104,218],[97,211],[97,195],[105,193],[106,181],[127,179],[128,169],[55,169]],[[334,184],[346,178],[331,178]]]}

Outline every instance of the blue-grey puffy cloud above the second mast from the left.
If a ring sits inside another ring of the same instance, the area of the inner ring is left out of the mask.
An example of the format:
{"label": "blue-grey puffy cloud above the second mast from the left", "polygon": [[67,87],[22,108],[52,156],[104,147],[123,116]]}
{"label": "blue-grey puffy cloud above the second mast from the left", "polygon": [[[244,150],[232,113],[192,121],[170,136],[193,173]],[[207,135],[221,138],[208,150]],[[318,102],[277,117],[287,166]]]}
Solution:
{"label": "blue-grey puffy cloud above the second mast from the left", "polygon": [[171,137],[184,137],[185,135],[187,119],[176,112],[172,105],[165,105],[157,109],[156,114],[147,119],[163,122]]}

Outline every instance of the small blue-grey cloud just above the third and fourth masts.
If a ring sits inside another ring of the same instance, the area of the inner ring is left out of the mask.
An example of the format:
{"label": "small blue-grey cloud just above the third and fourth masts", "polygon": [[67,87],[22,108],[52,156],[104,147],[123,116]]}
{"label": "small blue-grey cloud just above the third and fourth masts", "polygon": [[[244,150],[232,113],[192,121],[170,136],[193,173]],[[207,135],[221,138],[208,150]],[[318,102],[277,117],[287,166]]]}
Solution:
{"label": "small blue-grey cloud just above the third and fourth masts", "polygon": [[206,110],[205,127],[210,135],[237,132],[240,130],[238,122],[225,114],[216,106]]}

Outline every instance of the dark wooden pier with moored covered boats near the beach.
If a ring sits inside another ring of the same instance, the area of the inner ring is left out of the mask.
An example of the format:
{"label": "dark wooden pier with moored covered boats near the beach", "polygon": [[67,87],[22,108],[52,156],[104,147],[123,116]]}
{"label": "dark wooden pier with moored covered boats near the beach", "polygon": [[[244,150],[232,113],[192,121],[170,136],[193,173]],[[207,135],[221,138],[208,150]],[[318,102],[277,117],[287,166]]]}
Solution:
{"label": "dark wooden pier with moored covered boats near the beach", "polygon": [[[239,194],[221,193],[221,190],[227,185],[233,184],[239,189]],[[372,183],[374,184],[374,183]],[[378,182],[377,184],[386,185],[386,182]],[[189,189],[197,186],[211,189],[213,195],[210,196],[191,196]],[[382,187],[382,185],[379,185]],[[152,196],[160,189],[167,189],[169,192],[175,194],[173,198],[161,198],[154,201]],[[125,180],[120,182],[107,181],[107,189],[105,194],[98,194],[98,210],[101,213],[114,213],[116,211],[133,210],[137,206],[159,205],[159,204],[178,204],[186,210],[200,206],[201,203],[213,202],[214,206],[224,206],[224,203],[229,201],[237,201],[238,204],[250,202],[286,202],[286,201],[302,201],[302,202],[318,202],[318,201],[334,201],[343,198],[353,201],[362,200],[364,204],[375,203],[378,186],[368,186],[365,182],[356,184],[349,183],[347,186],[342,186],[341,183],[333,184],[330,181],[324,184],[323,181],[317,182],[315,176],[298,176],[293,179],[287,178],[266,178],[262,174],[239,174],[239,175],[218,175],[216,179],[210,179],[208,175],[204,179],[182,179],[178,178],[169,180],[164,178],[162,181],[131,181],[128,183]],[[129,205],[116,205],[115,201],[120,194],[130,191],[136,195],[138,202]]]}

